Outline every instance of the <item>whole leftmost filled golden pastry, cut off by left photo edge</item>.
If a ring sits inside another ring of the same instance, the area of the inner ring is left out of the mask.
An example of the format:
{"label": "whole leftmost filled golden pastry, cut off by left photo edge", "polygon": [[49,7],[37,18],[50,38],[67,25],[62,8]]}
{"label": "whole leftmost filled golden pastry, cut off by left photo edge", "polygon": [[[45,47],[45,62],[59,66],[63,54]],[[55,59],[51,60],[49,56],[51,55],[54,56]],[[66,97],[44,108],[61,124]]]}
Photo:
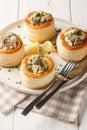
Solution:
{"label": "whole leftmost filled golden pastry, cut off by left photo edge", "polygon": [[14,33],[0,34],[0,66],[15,67],[25,55],[22,40]]}

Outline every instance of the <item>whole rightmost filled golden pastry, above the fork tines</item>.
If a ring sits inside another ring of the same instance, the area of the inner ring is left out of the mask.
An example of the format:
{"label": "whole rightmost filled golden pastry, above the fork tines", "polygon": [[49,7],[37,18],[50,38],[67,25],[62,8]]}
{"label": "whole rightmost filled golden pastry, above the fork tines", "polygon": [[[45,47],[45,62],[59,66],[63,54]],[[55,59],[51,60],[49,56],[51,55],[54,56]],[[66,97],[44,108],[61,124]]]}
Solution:
{"label": "whole rightmost filled golden pastry, above the fork tines", "polygon": [[64,60],[82,60],[87,55],[87,33],[74,27],[62,30],[57,37],[57,51]]}

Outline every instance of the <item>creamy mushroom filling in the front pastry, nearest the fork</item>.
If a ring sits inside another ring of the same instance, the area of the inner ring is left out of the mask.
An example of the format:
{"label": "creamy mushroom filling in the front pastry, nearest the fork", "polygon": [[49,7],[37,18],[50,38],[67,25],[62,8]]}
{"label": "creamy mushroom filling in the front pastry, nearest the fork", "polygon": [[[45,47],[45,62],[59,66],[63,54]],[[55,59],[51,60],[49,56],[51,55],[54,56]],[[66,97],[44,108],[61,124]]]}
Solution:
{"label": "creamy mushroom filling in the front pastry, nearest the fork", "polygon": [[43,56],[31,56],[27,62],[27,70],[32,73],[43,73],[49,65]]}

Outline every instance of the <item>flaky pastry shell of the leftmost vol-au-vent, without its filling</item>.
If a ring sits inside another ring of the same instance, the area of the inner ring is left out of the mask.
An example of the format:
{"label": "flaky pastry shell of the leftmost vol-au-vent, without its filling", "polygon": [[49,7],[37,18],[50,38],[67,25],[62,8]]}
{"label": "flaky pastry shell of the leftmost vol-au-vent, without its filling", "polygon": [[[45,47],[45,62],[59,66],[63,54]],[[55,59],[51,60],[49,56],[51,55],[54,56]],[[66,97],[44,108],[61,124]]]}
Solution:
{"label": "flaky pastry shell of the leftmost vol-au-vent, without its filling", "polygon": [[24,45],[22,40],[14,34],[17,38],[18,46],[11,50],[0,49],[0,66],[15,67],[20,64],[25,55]]}

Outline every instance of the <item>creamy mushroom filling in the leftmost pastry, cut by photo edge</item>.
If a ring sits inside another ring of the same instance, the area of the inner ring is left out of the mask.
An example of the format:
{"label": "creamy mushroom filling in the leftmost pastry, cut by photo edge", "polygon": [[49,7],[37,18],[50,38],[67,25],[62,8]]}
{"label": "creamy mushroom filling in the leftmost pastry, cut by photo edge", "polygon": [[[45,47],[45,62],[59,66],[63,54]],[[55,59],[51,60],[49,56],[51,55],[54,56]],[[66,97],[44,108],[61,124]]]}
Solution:
{"label": "creamy mushroom filling in the leftmost pastry, cut by photo edge", "polygon": [[0,49],[12,50],[18,46],[16,36],[12,33],[0,37]]}

